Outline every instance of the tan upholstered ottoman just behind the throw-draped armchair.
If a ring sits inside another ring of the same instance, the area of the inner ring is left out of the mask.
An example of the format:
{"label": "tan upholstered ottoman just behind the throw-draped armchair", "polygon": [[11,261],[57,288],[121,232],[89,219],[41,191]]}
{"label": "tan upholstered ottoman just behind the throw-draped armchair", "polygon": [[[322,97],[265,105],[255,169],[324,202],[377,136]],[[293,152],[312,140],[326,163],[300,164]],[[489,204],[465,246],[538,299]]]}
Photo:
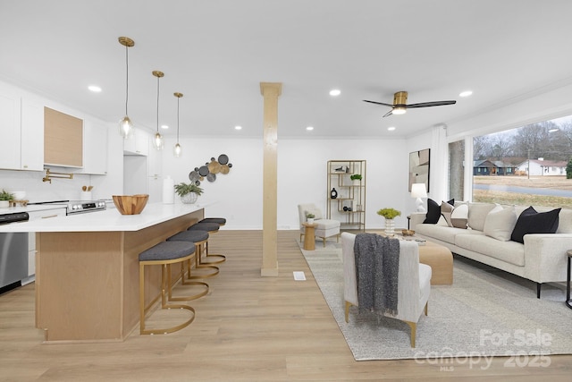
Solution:
{"label": "tan upholstered ottoman just behind the throw-draped armchair", "polygon": [[419,262],[431,267],[432,285],[453,284],[453,254],[449,248],[435,242],[419,246]]}

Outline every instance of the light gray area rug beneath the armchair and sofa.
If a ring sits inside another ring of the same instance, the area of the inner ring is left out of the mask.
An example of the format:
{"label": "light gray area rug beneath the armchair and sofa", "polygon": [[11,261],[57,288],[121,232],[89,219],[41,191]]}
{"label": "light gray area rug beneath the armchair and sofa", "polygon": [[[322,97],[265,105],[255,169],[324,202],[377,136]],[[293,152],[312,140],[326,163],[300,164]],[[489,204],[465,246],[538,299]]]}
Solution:
{"label": "light gray area rug beneath the armchair and sofa", "polygon": [[454,282],[432,286],[411,348],[409,327],[399,320],[352,307],[345,322],[341,244],[300,250],[356,361],[415,359],[446,367],[456,359],[485,367],[493,356],[509,356],[512,366],[548,366],[551,354],[572,353],[565,284],[543,285],[538,300],[531,281],[456,257]]}

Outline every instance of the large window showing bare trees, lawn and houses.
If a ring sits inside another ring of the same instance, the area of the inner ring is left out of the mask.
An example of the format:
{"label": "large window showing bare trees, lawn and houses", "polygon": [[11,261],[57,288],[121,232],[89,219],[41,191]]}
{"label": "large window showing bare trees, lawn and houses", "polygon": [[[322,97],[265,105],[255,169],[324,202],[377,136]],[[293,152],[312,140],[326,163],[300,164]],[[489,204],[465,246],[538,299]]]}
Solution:
{"label": "large window showing bare trees, lawn and houses", "polygon": [[572,208],[572,117],[473,139],[473,200]]}

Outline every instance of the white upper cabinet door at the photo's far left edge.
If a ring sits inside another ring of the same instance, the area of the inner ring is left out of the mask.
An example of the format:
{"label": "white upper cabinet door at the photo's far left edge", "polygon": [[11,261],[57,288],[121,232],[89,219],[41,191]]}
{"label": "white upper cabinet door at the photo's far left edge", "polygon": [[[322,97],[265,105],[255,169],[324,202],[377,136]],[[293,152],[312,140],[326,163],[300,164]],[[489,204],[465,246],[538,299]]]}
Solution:
{"label": "white upper cabinet door at the photo's far left edge", "polygon": [[0,168],[20,169],[20,109],[19,96],[0,93]]}

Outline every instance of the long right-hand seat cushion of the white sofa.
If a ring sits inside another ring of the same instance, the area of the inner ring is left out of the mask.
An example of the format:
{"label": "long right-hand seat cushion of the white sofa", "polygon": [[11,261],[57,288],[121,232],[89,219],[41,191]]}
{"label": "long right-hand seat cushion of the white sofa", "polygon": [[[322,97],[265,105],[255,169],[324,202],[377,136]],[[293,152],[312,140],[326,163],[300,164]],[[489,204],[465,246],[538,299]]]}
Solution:
{"label": "long right-hand seat cushion of the white sofa", "polygon": [[466,233],[459,233],[455,236],[455,244],[458,247],[482,253],[516,266],[523,267],[525,265],[525,246],[523,244],[519,242],[499,242],[485,234]]}

